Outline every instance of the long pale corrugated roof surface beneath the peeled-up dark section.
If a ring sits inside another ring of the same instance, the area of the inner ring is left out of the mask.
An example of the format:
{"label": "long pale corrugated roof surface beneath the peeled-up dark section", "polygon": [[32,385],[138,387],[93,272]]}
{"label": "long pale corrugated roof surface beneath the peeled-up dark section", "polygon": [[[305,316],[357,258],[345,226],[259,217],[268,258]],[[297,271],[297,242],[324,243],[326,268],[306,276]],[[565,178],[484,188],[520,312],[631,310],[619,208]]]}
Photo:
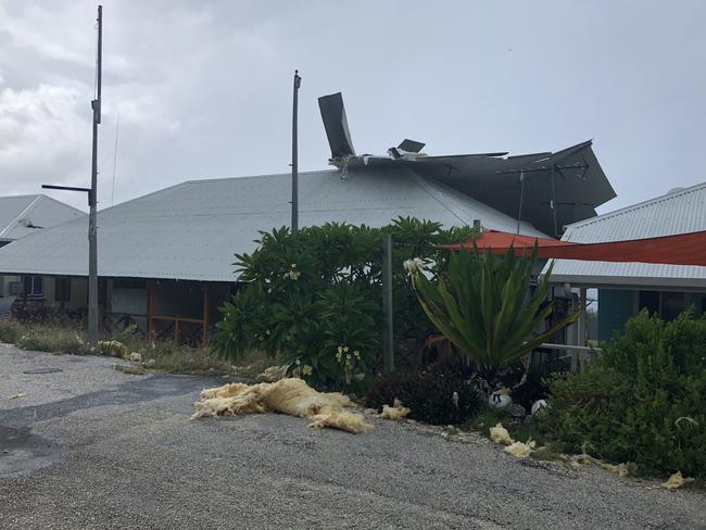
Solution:
{"label": "long pale corrugated roof surface beneath the peeled-up dark section", "polygon": [[[103,210],[99,274],[229,281],[234,254],[255,249],[257,230],[289,226],[291,176],[192,180]],[[516,220],[407,169],[300,174],[300,225],[382,226],[398,216],[516,230]],[[87,275],[88,220],[41,230],[0,249],[0,273]],[[544,236],[531,225],[520,231]]]}

